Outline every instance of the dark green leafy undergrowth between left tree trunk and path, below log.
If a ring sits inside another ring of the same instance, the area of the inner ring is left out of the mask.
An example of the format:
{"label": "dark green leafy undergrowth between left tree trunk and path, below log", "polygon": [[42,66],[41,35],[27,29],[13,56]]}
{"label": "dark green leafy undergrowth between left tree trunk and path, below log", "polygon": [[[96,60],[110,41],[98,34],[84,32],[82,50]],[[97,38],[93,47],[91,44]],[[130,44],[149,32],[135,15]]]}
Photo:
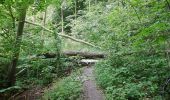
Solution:
{"label": "dark green leafy undergrowth between left tree trunk and path, below log", "polygon": [[[66,58],[61,57],[49,59],[20,59],[18,68],[18,84],[39,84],[46,85],[53,81],[54,78],[60,78],[69,75],[75,68],[80,67],[78,64],[79,57]],[[59,64],[58,64],[59,63]]]}

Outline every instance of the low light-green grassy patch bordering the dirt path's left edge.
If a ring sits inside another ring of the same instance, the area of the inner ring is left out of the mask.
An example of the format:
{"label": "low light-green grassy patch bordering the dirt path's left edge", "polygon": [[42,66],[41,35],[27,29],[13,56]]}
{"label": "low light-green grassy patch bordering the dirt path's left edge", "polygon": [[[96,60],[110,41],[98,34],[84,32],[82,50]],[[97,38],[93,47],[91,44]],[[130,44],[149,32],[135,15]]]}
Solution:
{"label": "low light-green grassy patch bordering the dirt path's left edge", "polygon": [[70,76],[54,82],[44,93],[43,100],[81,100],[82,83],[79,77],[81,69],[74,71]]}

